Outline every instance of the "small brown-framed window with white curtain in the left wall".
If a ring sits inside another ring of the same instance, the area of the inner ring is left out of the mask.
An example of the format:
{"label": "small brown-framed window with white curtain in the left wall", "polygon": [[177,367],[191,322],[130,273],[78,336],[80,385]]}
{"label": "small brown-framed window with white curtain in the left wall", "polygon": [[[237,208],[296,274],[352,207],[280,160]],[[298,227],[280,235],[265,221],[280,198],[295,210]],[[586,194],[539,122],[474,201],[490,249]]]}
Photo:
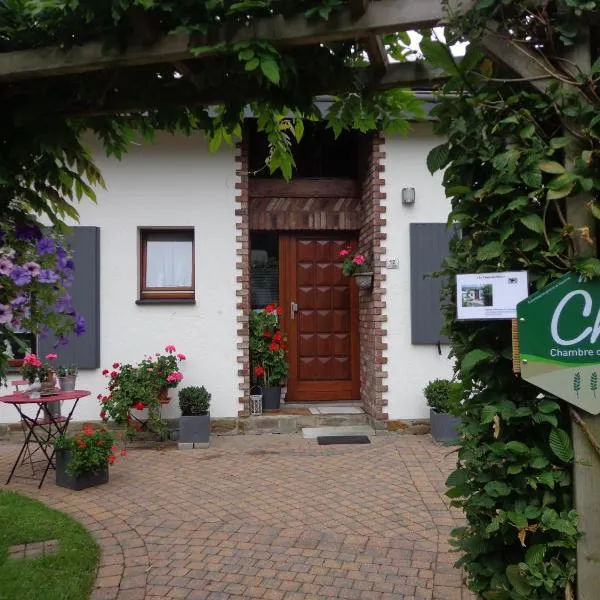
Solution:
{"label": "small brown-framed window with white curtain in the left wall", "polygon": [[140,230],[141,299],[194,299],[194,230]]}

